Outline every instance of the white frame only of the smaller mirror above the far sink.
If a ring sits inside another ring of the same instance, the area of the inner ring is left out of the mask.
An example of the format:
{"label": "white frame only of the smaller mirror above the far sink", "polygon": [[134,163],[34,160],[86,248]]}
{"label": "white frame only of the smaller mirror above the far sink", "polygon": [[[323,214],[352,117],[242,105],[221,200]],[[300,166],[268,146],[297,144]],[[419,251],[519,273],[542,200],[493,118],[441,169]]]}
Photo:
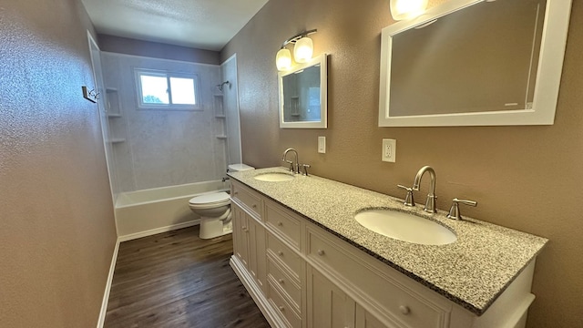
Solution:
{"label": "white frame only of the smaller mirror above the far sink", "polygon": [[[295,74],[304,68],[320,64],[320,121],[285,122],[283,115],[283,77]],[[326,54],[316,56],[312,60],[296,64],[292,69],[278,72],[280,128],[328,128],[328,67]]]}

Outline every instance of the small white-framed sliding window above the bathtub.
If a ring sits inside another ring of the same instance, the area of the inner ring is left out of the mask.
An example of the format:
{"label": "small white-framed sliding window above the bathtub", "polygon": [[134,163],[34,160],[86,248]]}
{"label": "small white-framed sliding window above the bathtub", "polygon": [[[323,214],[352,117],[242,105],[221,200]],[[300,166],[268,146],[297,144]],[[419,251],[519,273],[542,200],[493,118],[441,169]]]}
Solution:
{"label": "small white-framed sliding window above the bathtub", "polygon": [[199,109],[198,77],[136,69],[139,108]]}

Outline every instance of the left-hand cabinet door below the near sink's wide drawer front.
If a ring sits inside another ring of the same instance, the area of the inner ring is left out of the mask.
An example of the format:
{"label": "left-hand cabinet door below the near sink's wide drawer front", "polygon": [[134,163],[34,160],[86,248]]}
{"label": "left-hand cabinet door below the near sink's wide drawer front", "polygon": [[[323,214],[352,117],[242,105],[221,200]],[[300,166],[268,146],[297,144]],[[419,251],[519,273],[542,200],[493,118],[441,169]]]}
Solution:
{"label": "left-hand cabinet door below the near sink's wide drawer front", "polygon": [[307,278],[307,326],[354,328],[353,299],[311,266]]}

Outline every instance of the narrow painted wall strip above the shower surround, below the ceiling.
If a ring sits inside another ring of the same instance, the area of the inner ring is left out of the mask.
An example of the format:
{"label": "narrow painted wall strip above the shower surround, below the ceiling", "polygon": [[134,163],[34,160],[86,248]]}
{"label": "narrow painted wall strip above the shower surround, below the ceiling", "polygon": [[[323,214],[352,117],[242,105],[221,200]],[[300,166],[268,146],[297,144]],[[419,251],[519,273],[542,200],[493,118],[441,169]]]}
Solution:
{"label": "narrow painted wall strip above the shower surround, below the ceiling", "polygon": [[98,37],[101,51],[182,60],[193,63],[220,64],[220,54],[217,51],[202,50],[187,46],[173,46],[120,36],[99,35]]}

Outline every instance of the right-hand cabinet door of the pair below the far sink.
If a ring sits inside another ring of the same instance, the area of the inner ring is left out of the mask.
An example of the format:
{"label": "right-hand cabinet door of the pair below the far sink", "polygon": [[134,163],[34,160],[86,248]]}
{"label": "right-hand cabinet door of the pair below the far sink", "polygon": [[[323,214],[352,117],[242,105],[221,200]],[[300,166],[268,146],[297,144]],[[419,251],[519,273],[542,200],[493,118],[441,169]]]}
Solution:
{"label": "right-hand cabinet door of the pair below the far sink", "polygon": [[267,259],[265,255],[265,228],[260,222],[253,219],[245,213],[248,223],[248,242],[249,242],[249,272],[255,279],[255,282],[265,293],[267,278]]}

